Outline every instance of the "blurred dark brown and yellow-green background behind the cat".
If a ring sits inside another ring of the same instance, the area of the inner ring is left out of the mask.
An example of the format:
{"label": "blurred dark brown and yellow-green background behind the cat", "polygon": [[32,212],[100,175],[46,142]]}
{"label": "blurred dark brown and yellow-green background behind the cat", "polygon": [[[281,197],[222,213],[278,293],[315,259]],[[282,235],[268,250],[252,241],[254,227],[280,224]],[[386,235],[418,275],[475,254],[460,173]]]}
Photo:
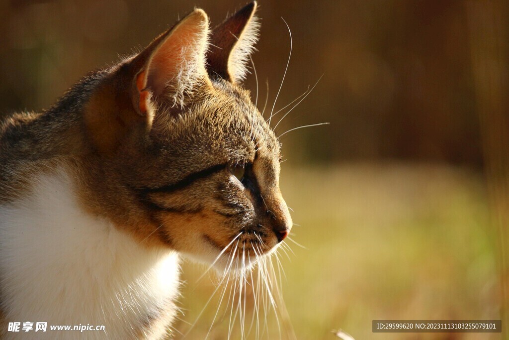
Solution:
{"label": "blurred dark brown and yellow-green background behind the cat", "polygon": [[[259,4],[252,59],[260,110],[268,98],[268,117],[318,82],[276,134],[330,122],[281,137],[282,191],[299,224],[292,237],[305,249],[288,242],[294,253],[280,252],[287,312],[278,308],[279,321],[290,320],[300,339],[337,338],[338,329],[356,339],[509,338],[371,330],[375,319],[503,319],[509,327],[507,3]],[[86,72],[139,51],[193,6],[214,26],[243,5],[0,1],[0,116],[47,108]],[[290,51],[281,17],[293,51],[274,104]],[[253,74],[245,86],[255,100]],[[201,272],[184,267],[177,337],[215,289],[213,278],[196,283]],[[205,336],[216,302],[186,338]],[[228,335],[226,309],[209,338]],[[264,337],[294,337],[283,326],[279,335],[273,315],[269,325]]]}

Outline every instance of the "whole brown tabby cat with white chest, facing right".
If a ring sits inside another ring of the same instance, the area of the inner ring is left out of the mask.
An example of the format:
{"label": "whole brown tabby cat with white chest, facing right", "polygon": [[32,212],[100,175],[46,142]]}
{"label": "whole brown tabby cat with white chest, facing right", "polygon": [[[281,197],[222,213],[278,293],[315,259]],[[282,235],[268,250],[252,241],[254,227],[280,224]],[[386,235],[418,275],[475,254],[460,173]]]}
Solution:
{"label": "whole brown tabby cat with white chest, facing right", "polygon": [[172,336],[182,256],[232,271],[288,236],[280,146],[242,86],[256,9],[213,30],[195,9],[50,109],[2,121],[3,338]]}

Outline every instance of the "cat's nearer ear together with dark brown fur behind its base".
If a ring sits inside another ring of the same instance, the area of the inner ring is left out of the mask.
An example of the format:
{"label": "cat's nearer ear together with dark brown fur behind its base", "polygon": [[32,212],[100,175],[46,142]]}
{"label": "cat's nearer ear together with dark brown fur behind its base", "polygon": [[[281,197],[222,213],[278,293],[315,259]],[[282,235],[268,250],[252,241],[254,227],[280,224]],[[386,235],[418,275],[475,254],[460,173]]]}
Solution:
{"label": "cat's nearer ear together with dark brown fur behind its base", "polygon": [[211,86],[205,70],[208,34],[207,15],[195,9],[104,77],[83,110],[99,152],[116,150],[129,133],[149,131],[159,100],[183,106],[195,88]]}

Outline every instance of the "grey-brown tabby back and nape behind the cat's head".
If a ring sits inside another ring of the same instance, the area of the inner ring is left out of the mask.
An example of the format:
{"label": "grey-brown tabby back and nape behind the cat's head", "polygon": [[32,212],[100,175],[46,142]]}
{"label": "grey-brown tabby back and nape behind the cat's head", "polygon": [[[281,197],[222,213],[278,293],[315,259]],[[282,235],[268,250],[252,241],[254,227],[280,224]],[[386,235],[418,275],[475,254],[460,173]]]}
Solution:
{"label": "grey-brown tabby back and nape behind the cat's head", "polygon": [[47,110],[0,118],[0,203],[25,192],[41,172],[86,152],[81,116],[105,74],[91,72]]}

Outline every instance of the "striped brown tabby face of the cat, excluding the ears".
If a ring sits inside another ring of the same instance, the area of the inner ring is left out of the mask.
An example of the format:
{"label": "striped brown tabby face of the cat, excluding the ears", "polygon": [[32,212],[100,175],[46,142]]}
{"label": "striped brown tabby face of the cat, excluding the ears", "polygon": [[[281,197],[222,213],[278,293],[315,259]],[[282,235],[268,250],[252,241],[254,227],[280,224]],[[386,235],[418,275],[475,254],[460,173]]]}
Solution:
{"label": "striped brown tabby face of the cat, excluding the ears", "polygon": [[221,80],[213,87],[172,123],[156,116],[144,152],[153,155],[151,176],[132,186],[179,251],[213,259],[238,237],[231,247],[254,258],[292,223],[279,191],[279,144],[247,93]]}

